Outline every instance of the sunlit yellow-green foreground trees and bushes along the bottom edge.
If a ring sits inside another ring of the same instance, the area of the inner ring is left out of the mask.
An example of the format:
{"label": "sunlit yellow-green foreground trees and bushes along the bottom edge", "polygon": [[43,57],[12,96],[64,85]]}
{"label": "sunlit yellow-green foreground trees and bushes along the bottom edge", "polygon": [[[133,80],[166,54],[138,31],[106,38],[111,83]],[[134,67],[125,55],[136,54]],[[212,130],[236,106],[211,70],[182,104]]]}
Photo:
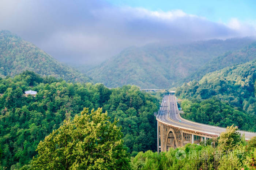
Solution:
{"label": "sunlit yellow-green foreground trees and bushes along the bottom edge", "polygon": [[[84,108],[74,120],[66,119],[37,147],[38,155],[11,169],[132,169],[132,170],[241,170],[256,168],[256,137],[248,142],[229,126],[220,137],[187,144],[167,152],[139,152],[130,157],[117,121],[109,121],[101,108]],[[20,168],[21,167],[21,168]]]}

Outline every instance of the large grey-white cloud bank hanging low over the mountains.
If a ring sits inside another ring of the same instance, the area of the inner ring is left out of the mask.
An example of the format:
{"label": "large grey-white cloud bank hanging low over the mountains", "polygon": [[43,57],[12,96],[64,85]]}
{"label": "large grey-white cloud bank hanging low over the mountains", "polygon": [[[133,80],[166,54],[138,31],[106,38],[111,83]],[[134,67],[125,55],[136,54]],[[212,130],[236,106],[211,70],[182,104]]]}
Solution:
{"label": "large grey-white cloud bank hanging low over the mountains", "polygon": [[[50,5],[49,5],[50,4]],[[8,16],[8,17],[7,17]],[[3,0],[0,29],[8,29],[62,61],[102,61],[123,48],[255,35],[255,24],[215,23],[182,10],[114,7],[105,1]]]}

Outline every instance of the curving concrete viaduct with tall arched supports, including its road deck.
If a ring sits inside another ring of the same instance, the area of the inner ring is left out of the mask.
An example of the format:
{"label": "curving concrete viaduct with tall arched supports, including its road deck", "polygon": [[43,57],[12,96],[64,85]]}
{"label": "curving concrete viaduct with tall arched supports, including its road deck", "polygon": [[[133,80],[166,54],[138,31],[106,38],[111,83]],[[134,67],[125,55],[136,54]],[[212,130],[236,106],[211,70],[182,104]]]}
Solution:
{"label": "curving concrete viaduct with tall arched supports, including its road deck", "polygon": [[[181,118],[176,97],[172,94],[163,96],[157,117],[157,151],[168,151],[170,147],[182,147],[187,143],[219,137],[226,128],[192,122]],[[238,130],[248,141],[256,136],[254,132]],[[160,143],[159,143],[160,142]]]}

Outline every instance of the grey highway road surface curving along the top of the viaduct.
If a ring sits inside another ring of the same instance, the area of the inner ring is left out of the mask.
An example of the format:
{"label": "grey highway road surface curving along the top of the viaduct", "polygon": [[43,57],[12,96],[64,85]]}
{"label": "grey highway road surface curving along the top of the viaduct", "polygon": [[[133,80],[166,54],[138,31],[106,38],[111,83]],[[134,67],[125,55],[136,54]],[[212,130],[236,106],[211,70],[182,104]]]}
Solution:
{"label": "grey highway road surface curving along the top of the viaduct", "polygon": [[[211,126],[202,123],[192,122],[190,120],[186,120],[181,118],[178,106],[176,102],[176,97],[174,95],[164,95],[163,100],[157,115],[157,120],[163,124],[167,124],[168,126],[188,130],[191,132],[200,134],[207,134],[211,136],[218,137],[222,132],[226,131],[226,128]],[[242,135],[245,135],[245,140],[248,141],[253,136],[256,136],[256,133],[241,131],[238,132]]]}

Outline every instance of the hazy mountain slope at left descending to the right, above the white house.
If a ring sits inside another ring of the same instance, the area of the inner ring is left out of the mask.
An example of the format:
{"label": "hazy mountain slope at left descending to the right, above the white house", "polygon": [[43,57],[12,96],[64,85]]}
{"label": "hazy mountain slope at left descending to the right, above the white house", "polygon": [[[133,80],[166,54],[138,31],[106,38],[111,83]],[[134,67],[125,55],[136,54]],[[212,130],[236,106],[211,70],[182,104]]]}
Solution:
{"label": "hazy mountain slope at left descending to the right, above the white house", "polygon": [[0,31],[0,77],[31,70],[43,76],[66,81],[90,82],[91,79],[61,64],[46,52],[9,31]]}

